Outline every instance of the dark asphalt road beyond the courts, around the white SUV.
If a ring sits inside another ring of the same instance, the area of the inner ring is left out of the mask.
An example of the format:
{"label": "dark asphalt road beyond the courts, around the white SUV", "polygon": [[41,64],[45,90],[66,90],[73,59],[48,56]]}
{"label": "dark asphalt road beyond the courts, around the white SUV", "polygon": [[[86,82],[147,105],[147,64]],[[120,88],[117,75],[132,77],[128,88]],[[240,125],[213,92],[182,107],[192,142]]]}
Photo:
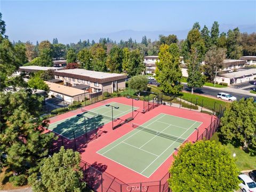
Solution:
{"label": "dark asphalt road beyond the courts, around the white SUV", "polygon": [[[223,91],[221,91],[222,89],[223,89]],[[219,92],[227,92],[227,93],[230,93],[231,95],[234,95],[237,98],[237,100],[240,100],[240,99],[246,98],[246,97],[250,97],[249,95],[246,95],[246,94],[241,94],[241,93],[231,92],[231,91],[225,91],[225,88],[222,88],[222,89],[214,90],[214,89],[211,89],[211,88],[202,87],[201,89],[196,90],[195,93],[211,95],[213,97],[216,97]],[[183,90],[190,91],[188,89],[187,85],[183,85]]]}

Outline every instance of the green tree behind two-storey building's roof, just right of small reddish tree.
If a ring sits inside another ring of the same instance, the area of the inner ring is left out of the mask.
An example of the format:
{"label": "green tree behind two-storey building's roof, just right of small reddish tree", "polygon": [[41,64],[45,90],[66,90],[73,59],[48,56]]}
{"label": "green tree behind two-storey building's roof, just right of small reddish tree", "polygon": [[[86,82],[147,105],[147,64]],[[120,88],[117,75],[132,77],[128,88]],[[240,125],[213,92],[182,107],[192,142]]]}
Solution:
{"label": "green tree behind two-storey building's roof, just right of small reddish tree", "polygon": [[82,68],[86,70],[92,70],[92,54],[88,48],[84,48],[77,54],[77,59],[81,63]]}

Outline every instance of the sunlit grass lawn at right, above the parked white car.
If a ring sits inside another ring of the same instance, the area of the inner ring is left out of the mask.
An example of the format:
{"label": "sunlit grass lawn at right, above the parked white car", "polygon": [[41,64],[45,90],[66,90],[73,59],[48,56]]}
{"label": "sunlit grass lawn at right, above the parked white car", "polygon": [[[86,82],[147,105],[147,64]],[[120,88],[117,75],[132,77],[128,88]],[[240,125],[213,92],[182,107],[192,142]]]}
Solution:
{"label": "sunlit grass lawn at right, above the parked white car", "polygon": [[[213,134],[213,137],[211,140],[215,140],[219,142],[218,132]],[[233,154],[236,154],[236,165],[239,169],[239,171],[245,171],[245,170],[252,170],[256,169],[256,156],[250,156],[249,154],[245,153],[245,151],[241,148],[235,148],[233,145],[222,145],[227,150],[230,151],[231,156],[233,157]]]}

